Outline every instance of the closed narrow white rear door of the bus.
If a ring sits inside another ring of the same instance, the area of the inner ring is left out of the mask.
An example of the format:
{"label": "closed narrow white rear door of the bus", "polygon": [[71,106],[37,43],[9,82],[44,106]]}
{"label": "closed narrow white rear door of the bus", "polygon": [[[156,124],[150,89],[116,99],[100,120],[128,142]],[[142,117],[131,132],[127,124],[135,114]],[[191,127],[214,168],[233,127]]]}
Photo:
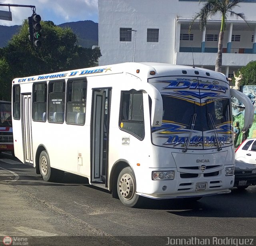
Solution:
{"label": "closed narrow white rear door of the bus", "polygon": [[32,134],[31,134],[31,94],[22,94],[22,140],[24,163],[33,165]]}

